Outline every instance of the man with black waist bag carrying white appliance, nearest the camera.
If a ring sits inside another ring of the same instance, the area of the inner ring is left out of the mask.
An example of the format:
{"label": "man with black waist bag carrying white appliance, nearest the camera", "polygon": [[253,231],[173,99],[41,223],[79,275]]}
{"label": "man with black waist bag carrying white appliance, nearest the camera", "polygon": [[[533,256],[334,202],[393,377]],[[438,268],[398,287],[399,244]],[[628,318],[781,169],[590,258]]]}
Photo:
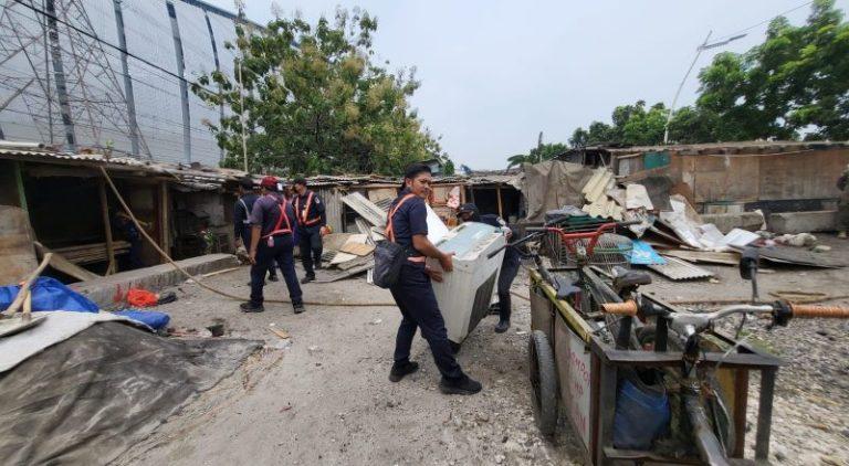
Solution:
{"label": "man with black waist bag carrying white appliance, nearest the camera", "polygon": [[426,257],[433,257],[439,260],[444,272],[453,268],[453,254],[439,251],[428,240],[424,199],[430,193],[430,182],[428,166],[416,163],[408,168],[403,178],[405,188],[389,210],[391,215],[387,221],[387,236],[407,253],[398,282],[389,288],[402,316],[389,380],[398,382],[419,369],[418,362],[410,361],[410,346],[416,329],[421,328],[421,336],[428,340],[433,360],[442,374],[440,391],[446,394],[473,394],[481,391],[481,384],[464,374],[457,363],[430,282],[431,278],[441,282],[442,274],[424,264]]}

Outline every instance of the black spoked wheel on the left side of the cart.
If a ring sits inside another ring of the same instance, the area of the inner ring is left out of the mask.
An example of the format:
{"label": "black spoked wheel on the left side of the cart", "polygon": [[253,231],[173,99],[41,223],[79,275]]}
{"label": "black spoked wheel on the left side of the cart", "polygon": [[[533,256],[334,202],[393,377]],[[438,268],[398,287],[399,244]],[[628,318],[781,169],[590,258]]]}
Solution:
{"label": "black spoked wheel on the left side of the cart", "polygon": [[543,435],[554,434],[557,426],[557,373],[548,338],[541,330],[534,330],[528,340],[531,359],[531,389],[534,395],[536,425]]}

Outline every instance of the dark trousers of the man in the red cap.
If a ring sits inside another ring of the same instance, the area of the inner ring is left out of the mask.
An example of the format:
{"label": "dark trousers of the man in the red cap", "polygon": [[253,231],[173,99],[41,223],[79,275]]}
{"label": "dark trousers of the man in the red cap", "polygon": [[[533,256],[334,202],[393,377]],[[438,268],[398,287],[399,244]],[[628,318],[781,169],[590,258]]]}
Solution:
{"label": "dark trousers of the man in the red cap", "polygon": [[274,246],[271,247],[268,240],[260,240],[260,245],[256,247],[256,263],[251,266],[251,304],[258,306],[263,303],[262,288],[265,285],[265,273],[269,267],[274,266],[274,262],[280,265],[280,272],[286,280],[292,304],[301,304],[303,294],[295,274],[295,258],[292,255],[294,247],[291,234],[274,236]]}

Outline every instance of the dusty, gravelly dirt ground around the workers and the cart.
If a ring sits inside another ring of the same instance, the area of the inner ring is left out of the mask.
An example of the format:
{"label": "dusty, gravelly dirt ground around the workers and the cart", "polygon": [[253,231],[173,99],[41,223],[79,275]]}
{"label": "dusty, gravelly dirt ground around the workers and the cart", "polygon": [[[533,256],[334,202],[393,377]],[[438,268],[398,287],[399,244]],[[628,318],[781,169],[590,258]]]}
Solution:
{"label": "dusty, gravelly dirt ground around the workers and the cart", "polygon": [[[849,243],[822,239],[830,254],[849,255]],[[665,299],[747,298],[748,284],[736,268],[706,266],[717,280],[672,283],[657,275],[646,287]],[[774,267],[761,275],[761,293],[803,289],[849,294],[841,269]],[[216,275],[210,285],[249,294],[248,269]],[[290,305],[269,305],[244,315],[238,303],[195,284],[176,287],[179,300],[160,310],[178,328],[203,329],[226,322],[226,337],[265,340],[233,377],[200,394],[182,412],[138,443],[116,463],[135,464],[387,464],[489,465],[585,464],[562,419],[554,439],[536,430],[527,382],[530,306],[514,298],[513,327],[492,331],[489,317],[463,345],[463,369],[483,383],[473,396],[447,396],[427,343],[413,343],[421,370],[399,383],[387,375],[400,314],[389,306],[307,306],[295,316]],[[527,296],[521,273],[514,290]],[[305,299],[353,304],[390,303],[389,293],[364,277],[304,286]],[[283,283],[269,284],[266,297],[285,297]],[[849,299],[835,303],[849,304]],[[270,328],[285,330],[281,339]],[[788,465],[849,464],[849,322],[794,321],[772,331],[747,327],[748,340],[788,362],[778,373],[771,459]],[[203,330],[206,331],[206,330]],[[753,455],[755,390],[750,398]],[[562,416],[563,417],[563,416]]]}

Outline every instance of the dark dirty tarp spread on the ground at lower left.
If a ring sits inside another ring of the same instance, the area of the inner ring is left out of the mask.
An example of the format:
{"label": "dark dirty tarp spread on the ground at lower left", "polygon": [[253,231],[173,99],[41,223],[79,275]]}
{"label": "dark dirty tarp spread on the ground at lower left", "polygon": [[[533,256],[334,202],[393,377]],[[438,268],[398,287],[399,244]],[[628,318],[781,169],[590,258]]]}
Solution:
{"label": "dark dirty tarp spread on the ground at lower left", "polygon": [[260,348],[101,322],[0,375],[4,465],[114,460]]}

